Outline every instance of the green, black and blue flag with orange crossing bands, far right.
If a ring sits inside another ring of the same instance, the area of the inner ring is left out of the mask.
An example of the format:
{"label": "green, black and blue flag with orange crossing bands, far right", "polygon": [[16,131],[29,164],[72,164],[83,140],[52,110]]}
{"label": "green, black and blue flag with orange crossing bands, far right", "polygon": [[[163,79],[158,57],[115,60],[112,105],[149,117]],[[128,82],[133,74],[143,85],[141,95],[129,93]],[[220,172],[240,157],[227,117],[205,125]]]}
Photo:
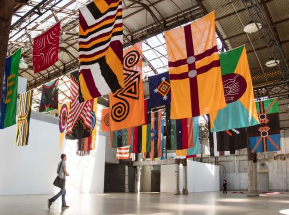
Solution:
{"label": "green, black and blue flag with orange crossing bands, far right", "polygon": [[280,151],[278,99],[256,102],[260,125],[248,127],[252,153]]}

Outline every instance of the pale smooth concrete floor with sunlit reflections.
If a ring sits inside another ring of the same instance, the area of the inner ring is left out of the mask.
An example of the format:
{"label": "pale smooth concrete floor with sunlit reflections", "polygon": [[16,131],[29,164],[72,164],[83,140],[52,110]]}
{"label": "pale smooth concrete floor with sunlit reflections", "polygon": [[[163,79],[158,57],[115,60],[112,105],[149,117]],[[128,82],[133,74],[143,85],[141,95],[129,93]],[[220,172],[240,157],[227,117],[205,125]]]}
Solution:
{"label": "pale smooth concrete floor with sunlit reflections", "polygon": [[[0,215],[281,215],[289,209],[289,193],[247,198],[228,192],[175,196],[159,193],[106,193],[69,196],[71,208],[61,210],[61,200],[47,209],[51,195],[0,196]],[[289,215],[288,213],[285,213]]]}

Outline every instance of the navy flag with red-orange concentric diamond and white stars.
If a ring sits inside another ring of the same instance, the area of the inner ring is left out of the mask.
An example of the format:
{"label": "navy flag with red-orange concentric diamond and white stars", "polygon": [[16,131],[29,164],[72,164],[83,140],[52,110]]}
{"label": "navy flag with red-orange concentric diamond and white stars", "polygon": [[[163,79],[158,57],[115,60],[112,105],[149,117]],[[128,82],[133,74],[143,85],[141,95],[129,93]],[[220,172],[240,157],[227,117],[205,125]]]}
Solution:
{"label": "navy flag with red-orange concentric diamond and white stars", "polygon": [[159,107],[171,103],[171,82],[169,72],[149,76],[150,105]]}

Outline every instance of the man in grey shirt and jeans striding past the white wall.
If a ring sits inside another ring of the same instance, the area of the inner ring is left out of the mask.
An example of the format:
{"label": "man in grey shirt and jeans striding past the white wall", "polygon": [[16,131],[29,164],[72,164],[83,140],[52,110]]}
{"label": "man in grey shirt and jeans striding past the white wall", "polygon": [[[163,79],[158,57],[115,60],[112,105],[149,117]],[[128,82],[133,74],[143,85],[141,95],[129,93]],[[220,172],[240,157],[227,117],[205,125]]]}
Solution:
{"label": "man in grey shirt and jeans striding past the white wall", "polygon": [[60,196],[62,199],[62,209],[67,209],[69,206],[66,205],[65,202],[65,195],[66,195],[66,190],[65,190],[65,176],[69,176],[69,174],[66,171],[66,155],[62,154],[60,156],[61,161],[59,161],[58,166],[57,166],[57,175],[59,177],[59,180],[64,180],[64,186],[60,189],[60,192],[56,194],[54,197],[51,199],[48,199],[48,209],[50,210],[50,206],[52,205],[53,202],[55,202]]}

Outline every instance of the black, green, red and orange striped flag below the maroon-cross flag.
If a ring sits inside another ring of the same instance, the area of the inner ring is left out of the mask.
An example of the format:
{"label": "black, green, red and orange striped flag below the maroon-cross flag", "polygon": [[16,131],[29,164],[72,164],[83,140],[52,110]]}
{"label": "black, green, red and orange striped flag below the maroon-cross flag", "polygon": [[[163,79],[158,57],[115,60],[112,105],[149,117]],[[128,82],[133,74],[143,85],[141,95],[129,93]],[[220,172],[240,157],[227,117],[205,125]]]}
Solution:
{"label": "black, green, red and orange striped flag below the maroon-cross flag", "polygon": [[171,107],[166,106],[166,149],[182,150],[193,147],[193,118],[170,119]]}

